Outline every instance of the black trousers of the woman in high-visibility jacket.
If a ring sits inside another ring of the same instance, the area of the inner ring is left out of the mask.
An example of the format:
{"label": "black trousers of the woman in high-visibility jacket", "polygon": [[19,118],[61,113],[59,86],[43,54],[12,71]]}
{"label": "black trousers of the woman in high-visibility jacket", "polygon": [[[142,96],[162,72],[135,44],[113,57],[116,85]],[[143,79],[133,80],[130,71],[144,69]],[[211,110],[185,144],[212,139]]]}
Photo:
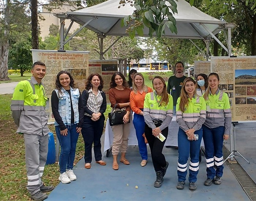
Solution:
{"label": "black trousers of the woman in high-visibility jacket", "polygon": [[[161,125],[161,123],[159,123],[155,126],[159,127],[160,125]],[[168,127],[163,129],[161,131],[161,133],[167,139]],[[148,145],[150,147],[154,169],[155,169],[156,172],[160,171],[160,170],[162,170],[163,167],[166,166],[165,156],[162,153],[163,146],[165,145],[166,139],[163,142],[161,142],[157,137],[155,137],[152,134],[152,128],[149,128],[147,124],[145,124],[145,136],[147,138]]]}

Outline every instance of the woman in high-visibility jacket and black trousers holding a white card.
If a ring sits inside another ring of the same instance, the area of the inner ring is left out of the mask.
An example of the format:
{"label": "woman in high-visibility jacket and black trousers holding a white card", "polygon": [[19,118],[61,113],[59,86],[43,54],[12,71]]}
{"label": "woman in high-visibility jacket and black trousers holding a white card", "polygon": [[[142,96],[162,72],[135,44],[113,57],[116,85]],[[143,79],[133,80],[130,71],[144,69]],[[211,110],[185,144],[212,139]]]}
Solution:
{"label": "woman in high-visibility jacket and black trousers holding a white card", "polygon": [[146,122],[145,136],[157,175],[154,187],[161,187],[169,165],[162,150],[168,135],[168,126],[173,118],[173,97],[167,93],[165,80],[162,77],[155,76],[152,83],[155,91],[146,94],[143,115]]}

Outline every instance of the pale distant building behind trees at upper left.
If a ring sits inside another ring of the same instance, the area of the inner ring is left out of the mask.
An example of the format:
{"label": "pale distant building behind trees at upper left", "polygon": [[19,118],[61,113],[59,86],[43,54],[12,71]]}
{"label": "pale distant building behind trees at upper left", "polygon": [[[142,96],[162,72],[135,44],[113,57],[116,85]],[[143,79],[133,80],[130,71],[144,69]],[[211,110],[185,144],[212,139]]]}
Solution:
{"label": "pale distant building behind trees at upper left", "polygon": [[[44,4],[44,5],[48,5],[48,4]],[[39,23],[39,27],[40,27],[40,31],[41,31],[40,36],[42,37],[43,40],[45,39],[45,37],[47,37],[49,35],[49,27],[50,27],[51,24],[55,24],[55,25],[60,26],[60,19],[57,18],[56,16],[54,16],[53,14],[65,13],[67,11],[77,10],[77,8],[74,7],[73,5],[63,5],[61,8],[54,9],[51,12],[49,12],[45,8],[44,5],[42,5],[42,12],[40,12],[39,14],[45,20],[38,19],[38,23]],[[65,28],[66,29],[68,28],[70,23],[71,23],[71,20],[69,20],[69,19],[65,20]],[[78,23],[73,23],[69,33],[70,32],[72,33],[74,30],[76,30],[78,28],[79,28],[79,24]]]}

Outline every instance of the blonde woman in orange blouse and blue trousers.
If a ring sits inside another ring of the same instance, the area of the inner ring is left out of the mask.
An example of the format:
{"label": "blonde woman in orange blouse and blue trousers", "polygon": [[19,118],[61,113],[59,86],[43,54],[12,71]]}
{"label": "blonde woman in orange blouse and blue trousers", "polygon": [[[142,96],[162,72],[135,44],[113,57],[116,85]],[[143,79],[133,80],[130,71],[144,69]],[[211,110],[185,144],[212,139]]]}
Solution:
{"label": "blonde woman in orange blouse and blue trousers", "polygon": [[134,111],[133,125],[136,130],[139,152],[142,157],[142,162],[140,163],[142,167],[147,164],[147,145],[142,135],[145,129],[145,121],[143,117],[144,98],[148,92],[153,92],[153,90],[144,84],[143,75],[141,73],[135,73],[132,92],[130,94],[130,105],[132,111]]}

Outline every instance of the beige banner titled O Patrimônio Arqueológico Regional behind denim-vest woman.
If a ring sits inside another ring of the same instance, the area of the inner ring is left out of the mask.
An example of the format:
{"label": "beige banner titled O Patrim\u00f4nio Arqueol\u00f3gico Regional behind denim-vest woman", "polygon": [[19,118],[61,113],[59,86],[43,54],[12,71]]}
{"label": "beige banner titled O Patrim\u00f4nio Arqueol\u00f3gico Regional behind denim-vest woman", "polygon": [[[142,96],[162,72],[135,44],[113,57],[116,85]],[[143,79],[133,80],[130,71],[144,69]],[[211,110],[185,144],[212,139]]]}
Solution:
{"label": "beige banner titled O Patrim\u00f4nio Arqueol\u00f3gico Regional behind denim-vest woman", "polygon": [[60,71],[68,71],[74,78],[76,87],[82,92],[85,81],[88,76],[89,52],[82,51],[65,51],[57,50],[31,50],[33,63],[42,61],[46,66],[46,74],[42,79],[44,84],[45,95],[48,97],[46,104],[46,113],[49,122],[54,122],[51,110],[50,97],[55,89],[56,76]]}

